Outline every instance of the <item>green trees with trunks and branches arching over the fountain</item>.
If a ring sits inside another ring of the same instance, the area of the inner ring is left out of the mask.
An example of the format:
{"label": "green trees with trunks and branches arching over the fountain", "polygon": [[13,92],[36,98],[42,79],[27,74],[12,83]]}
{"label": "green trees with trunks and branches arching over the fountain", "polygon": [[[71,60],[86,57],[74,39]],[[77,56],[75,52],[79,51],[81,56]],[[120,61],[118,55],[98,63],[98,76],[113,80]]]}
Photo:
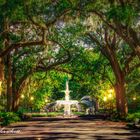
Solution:
{"label": "green trees with trunks and branches arching over the fountain", "polygon": [[[113,90],[121,116],[139,101],[139,1],[0,0],[2,109],[18,111],[22,95],[34,108],[90,95],[102,103]],[[4,106],[4,104],[7,104]],[[22,104],[20,104],[22,103]],[[128,106],[127,106],[128,104]]]}

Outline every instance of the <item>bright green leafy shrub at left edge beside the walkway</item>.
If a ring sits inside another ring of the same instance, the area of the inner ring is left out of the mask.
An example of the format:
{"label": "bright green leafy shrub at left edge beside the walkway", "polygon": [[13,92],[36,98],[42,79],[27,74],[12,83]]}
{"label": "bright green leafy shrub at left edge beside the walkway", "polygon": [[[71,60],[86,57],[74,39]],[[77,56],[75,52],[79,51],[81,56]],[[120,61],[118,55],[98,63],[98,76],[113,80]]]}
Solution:
{"label": "bright green leafy shrub at left edge beside the walkway", "polygon": [[20,121],[19,116],[13,112],[2,112],[0,113],[0,118],[1,118],[0,125],[2,126],[6,126],[11,123]]}

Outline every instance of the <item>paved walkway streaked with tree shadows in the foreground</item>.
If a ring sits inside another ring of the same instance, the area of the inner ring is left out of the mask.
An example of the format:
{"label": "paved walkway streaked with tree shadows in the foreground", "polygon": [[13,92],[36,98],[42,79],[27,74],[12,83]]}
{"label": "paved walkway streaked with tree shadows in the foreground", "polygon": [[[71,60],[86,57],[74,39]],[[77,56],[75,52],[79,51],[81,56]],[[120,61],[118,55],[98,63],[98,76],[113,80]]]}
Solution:
{"label": "paved walkway streaked with tree shadows in the foreground", "polygon": [[[20,122],[0,129],[1,140],[140,140],[140,131],[128,129],[123,122],[105,120],[49,120],[45,118]],[[2,132],[13,134],[1,134]]]}

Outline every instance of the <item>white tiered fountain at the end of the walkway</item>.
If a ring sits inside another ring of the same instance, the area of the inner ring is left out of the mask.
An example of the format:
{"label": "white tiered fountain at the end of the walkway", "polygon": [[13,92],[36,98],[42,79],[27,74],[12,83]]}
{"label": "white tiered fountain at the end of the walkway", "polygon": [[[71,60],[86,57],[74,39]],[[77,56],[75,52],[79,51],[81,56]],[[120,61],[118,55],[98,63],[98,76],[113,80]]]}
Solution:
{"label": "white tiered fountain at the end of the walkway", "polygon": [[71,116],[71,105],[76,105],[79,110],[79,105],[77,100],[70,100],[70,90],[68,80],[66,81],[65,100],[57,100],[56,105],[64,106],[64,116]]}

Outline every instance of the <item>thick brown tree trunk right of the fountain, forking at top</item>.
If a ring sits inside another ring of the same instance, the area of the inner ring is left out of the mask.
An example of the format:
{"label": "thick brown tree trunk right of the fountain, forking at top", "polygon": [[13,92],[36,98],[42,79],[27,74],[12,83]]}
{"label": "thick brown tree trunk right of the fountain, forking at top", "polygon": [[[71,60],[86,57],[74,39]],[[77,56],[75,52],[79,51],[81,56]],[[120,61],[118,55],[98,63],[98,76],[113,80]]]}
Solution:
{"label": "thick brown tree trunk right of the fountain, forking at top", "polygon": [[122,70],[121,65],[117,59],[116,55],[116,42],[117,38],[114,34],[113,36],[109,33],[106,28],[104,32],[104,41],[100,43],[99,40],[90,35],[90,38],[100,46],[101,53],[109,60],[111,68],[115,76],[115,93],[116,93],[116,107],[120,116],[125,116],[127,114],[127,101],[125,93],[125,72]]}

